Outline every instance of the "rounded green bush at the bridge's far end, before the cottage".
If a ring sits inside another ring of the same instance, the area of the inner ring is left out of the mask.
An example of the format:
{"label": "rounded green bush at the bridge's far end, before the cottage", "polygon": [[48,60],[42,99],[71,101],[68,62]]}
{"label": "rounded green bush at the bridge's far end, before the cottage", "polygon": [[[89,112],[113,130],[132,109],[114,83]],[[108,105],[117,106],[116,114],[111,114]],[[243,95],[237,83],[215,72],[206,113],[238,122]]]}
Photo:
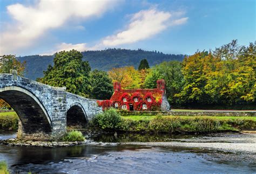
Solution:
{"label": "rounded green bush at the bridge's far end, before the cottage", "polygon": [[121,115],[114,108],[105,110],[104,113],[96,115],[92,120],[94,126],[102,129],[118,129],[121,122]]}

